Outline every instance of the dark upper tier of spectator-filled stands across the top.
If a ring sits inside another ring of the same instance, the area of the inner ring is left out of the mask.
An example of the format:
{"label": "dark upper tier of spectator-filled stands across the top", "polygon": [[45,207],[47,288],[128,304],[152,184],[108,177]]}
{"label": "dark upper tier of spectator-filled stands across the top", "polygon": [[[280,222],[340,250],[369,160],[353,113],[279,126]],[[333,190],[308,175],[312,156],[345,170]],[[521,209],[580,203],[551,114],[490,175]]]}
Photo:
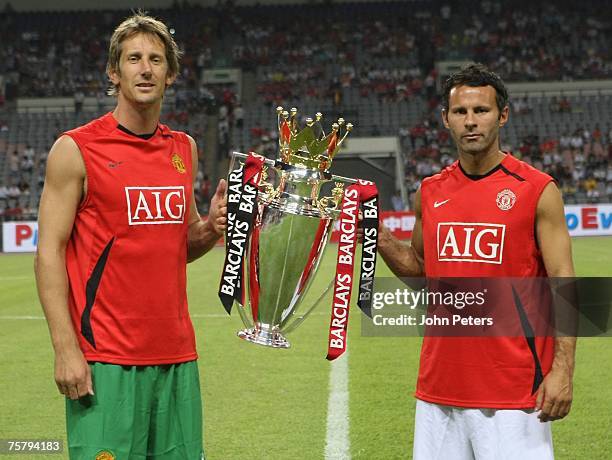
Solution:
{"label": "dark upper tier of spectator-filled stands across the top", "polygon": [[[218,63],[259,69],[265,100],[318,96],[335,84],[410,98],[428,88],[434,62],[443,59],[483,62],[508,81],[612,76],[611,15],[595,0],[482,0],[470,8],[452,0],[251,7],[220,1],[210,8],[184,2],[152,13],[171,25],[185,51],[177,89],[197,90],[202,70]],[[126,14],[5,8],[0,74],[11,94],[104,91],[108,39]]]}

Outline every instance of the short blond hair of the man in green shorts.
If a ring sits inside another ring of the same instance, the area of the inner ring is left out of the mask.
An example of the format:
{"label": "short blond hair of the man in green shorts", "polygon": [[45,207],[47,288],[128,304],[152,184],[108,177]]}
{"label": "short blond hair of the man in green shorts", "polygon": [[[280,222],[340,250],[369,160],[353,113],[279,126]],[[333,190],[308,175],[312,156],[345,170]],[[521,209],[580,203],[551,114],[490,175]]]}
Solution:
{"label": "short blond hair of the man in green shorts", "polygon": [[[121,45],[128,38],[136,34],[147,34],[157,37],[166,49],[166,61],[168,62],[168,75],[175,77],[179,73],[179,59],[182,52],[174,41],[174,37],[163,22],[148,16],[143,11],[134,13],[117,26],[108,47],[108,61],[106,62],[106,74],[112,72],[120,74],[119,60],[121,59]],[[116,96],[119,94],[119,86],[111,82],[106,94]]]}

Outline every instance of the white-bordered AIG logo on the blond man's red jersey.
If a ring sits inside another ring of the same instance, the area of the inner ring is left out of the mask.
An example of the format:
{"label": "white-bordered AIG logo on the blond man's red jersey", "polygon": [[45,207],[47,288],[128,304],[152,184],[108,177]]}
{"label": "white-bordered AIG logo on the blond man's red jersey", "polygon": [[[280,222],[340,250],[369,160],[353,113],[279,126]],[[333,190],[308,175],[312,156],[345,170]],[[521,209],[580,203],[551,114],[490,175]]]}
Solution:
{"label": "white-bordered AIG logo on the blond man's red jersey", "polygon": [[130,225],[182,224],[185,187],[125,187]]}

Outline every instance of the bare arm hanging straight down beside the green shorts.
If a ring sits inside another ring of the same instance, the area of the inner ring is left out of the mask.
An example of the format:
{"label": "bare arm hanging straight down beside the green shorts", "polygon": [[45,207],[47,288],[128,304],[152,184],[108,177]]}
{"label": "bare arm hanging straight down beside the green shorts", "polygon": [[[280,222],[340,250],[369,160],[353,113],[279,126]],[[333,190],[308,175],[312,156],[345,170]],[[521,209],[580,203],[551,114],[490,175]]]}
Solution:
{"label": "bare arm hanging straight down beside the green shorts", "polygon": [[60,137],[49,153],[38,212],[39,239],[34,270],[51,342],[60,393],[77,399],[93,394],[91,374],[68,311],[66,245],[83,196],[85,165],[76,143]]}

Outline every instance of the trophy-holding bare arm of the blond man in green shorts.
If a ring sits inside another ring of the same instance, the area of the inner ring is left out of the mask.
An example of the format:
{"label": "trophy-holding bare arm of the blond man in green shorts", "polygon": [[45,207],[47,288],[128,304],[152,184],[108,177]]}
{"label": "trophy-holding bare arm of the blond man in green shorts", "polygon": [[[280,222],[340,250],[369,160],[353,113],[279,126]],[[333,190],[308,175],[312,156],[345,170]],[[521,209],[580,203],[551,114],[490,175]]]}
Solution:
{"label": "trophy-holding bare arm of the blond man in green shorts", "polygon": [[[191,162],[195,188],[195,179],[198,175],[198,148],[191,136],[189,136],[189,142],[191,143]],[[187,230],[187,262],[193,262],[210,251],[225,232],[227,225],[226,188],[225,180],[221,179],[210,201],[208,219],[206,221],[202,221],[198,213],[195,202],[195,190],[192,191],[189,228]]]}

